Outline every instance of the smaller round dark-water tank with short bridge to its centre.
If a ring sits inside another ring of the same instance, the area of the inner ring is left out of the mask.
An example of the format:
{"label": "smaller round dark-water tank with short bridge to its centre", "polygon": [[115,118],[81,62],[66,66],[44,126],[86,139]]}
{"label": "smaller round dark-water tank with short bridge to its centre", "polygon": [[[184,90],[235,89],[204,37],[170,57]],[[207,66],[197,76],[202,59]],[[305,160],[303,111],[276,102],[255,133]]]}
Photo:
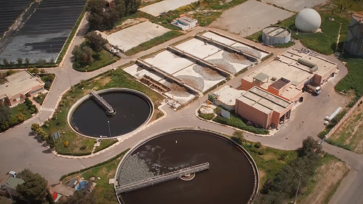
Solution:
{"label": "smaller round dark-water tank with short bridge to its centre", "polygon": [[150,121],[154,105],[147,95],[132,89],[112,88],[96,91],[114,109],[107,113],[100,103],[86,95],[69,110],[68,123],[87,137],[118,137],[129,134]]}

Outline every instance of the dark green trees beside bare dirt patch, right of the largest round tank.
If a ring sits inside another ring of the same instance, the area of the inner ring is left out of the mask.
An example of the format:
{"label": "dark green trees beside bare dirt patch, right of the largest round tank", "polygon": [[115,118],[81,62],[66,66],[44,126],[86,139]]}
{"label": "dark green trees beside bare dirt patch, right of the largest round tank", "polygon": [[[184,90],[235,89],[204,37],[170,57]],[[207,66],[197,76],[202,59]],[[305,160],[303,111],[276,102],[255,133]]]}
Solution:
{"label": "dark green trees beside bare dirt patch, right of the largest round tank", "polygon": [[[315,169],[321,163],[321,153],[322,147],[317,140],[311,136],[303,139],[302,147],[298,150],[298,157],[286,164],[273,179],[265,182],[254,203],[287,203],[286,200],[294,196],[297,189],[299,192],[304,189],[307,184],[306,178],[313,176]],[[298,171],[303,173],[300,184],[301,173]],[[298,185],[300,185],[299,188]]]}

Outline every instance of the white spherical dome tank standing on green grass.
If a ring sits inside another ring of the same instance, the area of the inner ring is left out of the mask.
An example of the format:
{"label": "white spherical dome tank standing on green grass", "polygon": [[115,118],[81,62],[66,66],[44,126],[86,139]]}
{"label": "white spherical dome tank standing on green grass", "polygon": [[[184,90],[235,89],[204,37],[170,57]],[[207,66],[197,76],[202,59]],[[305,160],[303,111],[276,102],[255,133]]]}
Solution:
{"label": "white spherical dome tank standing on green grass", "polygon": [[295,17],[295,27],[303,32],[315,32],[321,24],[321,17],[311,8],[302,9]]}

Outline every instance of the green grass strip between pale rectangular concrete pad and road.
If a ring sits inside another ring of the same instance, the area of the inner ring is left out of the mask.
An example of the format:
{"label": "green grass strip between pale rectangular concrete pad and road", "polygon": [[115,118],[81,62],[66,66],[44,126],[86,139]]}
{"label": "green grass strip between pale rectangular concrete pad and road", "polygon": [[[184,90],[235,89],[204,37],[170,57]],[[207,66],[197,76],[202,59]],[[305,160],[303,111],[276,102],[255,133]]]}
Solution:
{"label": "green grass strip between pale rectangular concrete pad and road", "polygon": [[140,45],[133,47],[125,52],[127,56],[134,55],[136,53],[148,50],[150,48],[155,47],[156,45],[160,45],[163,42],[166,42],[168,40],[171,40],[173,38],[179,37],[184,35],[184,33],[176,31],[176,30],[170,30],[169,32],[164,33],[162,36],[154,37],[151,40],[148,40],[146,42],[141,43]]}

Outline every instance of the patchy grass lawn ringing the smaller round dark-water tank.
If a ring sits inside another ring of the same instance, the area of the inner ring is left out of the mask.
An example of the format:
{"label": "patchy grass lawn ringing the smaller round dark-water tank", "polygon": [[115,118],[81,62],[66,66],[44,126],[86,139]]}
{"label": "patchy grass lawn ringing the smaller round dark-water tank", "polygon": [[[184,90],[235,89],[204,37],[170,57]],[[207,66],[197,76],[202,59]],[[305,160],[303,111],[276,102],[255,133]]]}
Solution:
{"label": "patchy grass lawn ringing the smaller round dark-water tank", "polygon": [[[68,91],[68,93],[63,96],[60,106],[58,106],[58,109],[61,110],[61,113],[56,114],[57,119],[51,119],[48,122],[48,127],[43,127],[47,133],[53,134],[57,131],[61,133],[62,137],[60,140],[57,139],[57,143],[54,147],[58,153],[70,154],[72,152],[76,154],[87,154],[92,151],[95,139],[84,138],[83,136],[80,136],[76,132],[72,131],[72,129],[67,124],[66,119],[68,110],[78,99],[88,94],[91,89],[102,90],[114,87],[124,87],[143,92],[154,102],[155,110],[152,119],[156,119],[157,115],[162,114],[162,112],[158,110],[157,107],[163,101],[164,97],[151,90],[149,87],[136,81],[134,77],[118,68],[112,72],[112,76],[105,76],[105,78],[102,78],[101,76],[95,79],[95,82],[86,82],[84,84],[83,90],[81,88],[74,88],[74,92]],[[63,132],[65,133],[63,134]],[[64,142],[66,140],[68,140],[69,147],[64,146]],[[80,147],[83,145],[86,146],[85,150],[80,149]],[[105,146],[102,145],[101,147]],[[101,150],[100,147],[97,148],[97,150]]]}

